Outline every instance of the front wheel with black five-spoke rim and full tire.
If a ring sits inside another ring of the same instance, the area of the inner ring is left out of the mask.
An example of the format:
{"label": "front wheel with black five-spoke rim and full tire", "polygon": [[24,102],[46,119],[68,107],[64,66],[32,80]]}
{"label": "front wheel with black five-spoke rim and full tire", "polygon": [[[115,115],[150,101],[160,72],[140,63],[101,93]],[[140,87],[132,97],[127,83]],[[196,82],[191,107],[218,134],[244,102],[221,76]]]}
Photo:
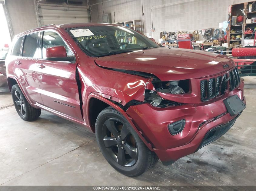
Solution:
{"label": "front wheel with black five-spoke rim and full tire", "polygon": [[95,133],[105,159],[126,176],[139,176],[158,161],[155,152],[148,149],[125,117],[113,107],[105,108],[98,115]]}

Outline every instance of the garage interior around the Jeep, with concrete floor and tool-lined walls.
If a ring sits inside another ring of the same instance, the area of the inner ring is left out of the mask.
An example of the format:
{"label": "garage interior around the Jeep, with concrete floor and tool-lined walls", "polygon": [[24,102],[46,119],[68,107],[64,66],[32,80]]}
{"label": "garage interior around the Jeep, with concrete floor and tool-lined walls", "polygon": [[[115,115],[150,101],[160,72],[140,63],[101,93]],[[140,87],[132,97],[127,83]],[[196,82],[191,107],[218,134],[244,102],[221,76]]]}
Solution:
{"label": "garage interior around the Jeep, with concrete floor and tool-lined walls", "polygon": [[[155,39],[166,49],[184,46],[232,57],[237,46],[255,46],[254,3],[244,0],[221,3],[211,0],[0,0],[0,15],[4,18],[0,48],[7,53],[15,35],[39,26],[93,22],[128,26]],[[239,16],[243,16],[240,24]],[[231,23],[233,17],[236,23],[228,27],[227,21]],[[250,56],[255,59],[256,54]],[[1,59],[0,67],[4,67],[4,58]],[[139,177],[127,177],[112,168],[102,156],[95,134],[82,125],[43,110],[36,121],[20,119],[7,83],[0,81],[0,186],[256,186],[256,72],[253,66],[246,66],[247,70],[243,71],[246,67],[235,62],[244,79],[247,106],[234,126],[196,153],[170,166],[158,161]]]}

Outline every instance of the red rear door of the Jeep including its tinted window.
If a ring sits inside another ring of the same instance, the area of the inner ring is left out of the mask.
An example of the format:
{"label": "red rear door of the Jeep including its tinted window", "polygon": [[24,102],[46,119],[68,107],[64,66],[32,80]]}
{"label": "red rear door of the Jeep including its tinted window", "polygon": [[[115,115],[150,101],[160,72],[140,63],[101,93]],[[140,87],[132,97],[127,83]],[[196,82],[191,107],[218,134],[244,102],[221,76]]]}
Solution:
{"label": "red rear door of the Jeep including its tinted window", "polygon": [[39,56],[39,33],[26,35],[23,39],[21,55],[14,64],[14,73],[18,77],[25,94],[32,103],[43,103],[36,70]]}

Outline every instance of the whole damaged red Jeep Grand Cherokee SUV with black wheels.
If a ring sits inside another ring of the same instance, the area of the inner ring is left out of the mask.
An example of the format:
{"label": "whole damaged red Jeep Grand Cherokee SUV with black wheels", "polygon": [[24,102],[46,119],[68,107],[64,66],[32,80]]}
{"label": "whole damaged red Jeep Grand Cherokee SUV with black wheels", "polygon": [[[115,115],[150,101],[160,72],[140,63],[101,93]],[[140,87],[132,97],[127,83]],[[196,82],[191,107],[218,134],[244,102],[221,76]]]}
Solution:
{"label": "whole damaged red Jeep Grand Cherokee SUV with black wheels", "polygon": [[213,142],[245,108],[234,62],[167,49],[125,26],[60,24],[18,34],[6,58],[15,109],[90,127],[109,164],[138,176]]}

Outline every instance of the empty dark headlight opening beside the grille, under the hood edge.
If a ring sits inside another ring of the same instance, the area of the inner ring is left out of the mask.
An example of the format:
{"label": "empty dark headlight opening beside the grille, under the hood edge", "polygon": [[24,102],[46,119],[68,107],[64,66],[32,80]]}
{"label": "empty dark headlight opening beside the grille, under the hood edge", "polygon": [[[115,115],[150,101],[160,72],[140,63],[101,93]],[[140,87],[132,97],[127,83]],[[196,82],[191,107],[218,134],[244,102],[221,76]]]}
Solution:
{"label": "empty dark headlight opening beside the grille, under the hood edge", "polygon": [[168,94],[185,94],[189,92],[189,80],[161,81],[154,83],[156,91]]}

